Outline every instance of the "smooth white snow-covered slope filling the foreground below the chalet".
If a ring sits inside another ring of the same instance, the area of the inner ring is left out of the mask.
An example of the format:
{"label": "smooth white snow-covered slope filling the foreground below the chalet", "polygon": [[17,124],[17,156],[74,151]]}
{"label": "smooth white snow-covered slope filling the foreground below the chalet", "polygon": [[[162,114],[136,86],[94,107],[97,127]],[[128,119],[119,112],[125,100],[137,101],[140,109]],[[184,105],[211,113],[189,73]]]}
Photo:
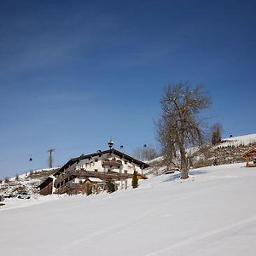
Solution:
{"label": "smooth white snow-covered slope filling the foreground below the chalet", "polygon": [[244,166],[150,177],[111,195],[4,201],[0,254],[256,255],[256,168]]}

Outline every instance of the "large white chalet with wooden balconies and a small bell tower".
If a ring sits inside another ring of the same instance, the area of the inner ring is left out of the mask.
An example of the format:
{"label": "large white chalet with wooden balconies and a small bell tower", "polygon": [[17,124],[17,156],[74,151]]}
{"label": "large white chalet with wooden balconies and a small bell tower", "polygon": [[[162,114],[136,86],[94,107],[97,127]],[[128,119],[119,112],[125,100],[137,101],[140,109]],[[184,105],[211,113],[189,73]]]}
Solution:
{"label": "large white chalet with wooden balconies and a small bell tower", "polygon": [[137,171],[138,179],[147,178],[143,175],[143,169],[148,168],[148,164],[112,148],[112,142],[108,145],[108,150],[99,150],[67,161],[38,186],[40,194],[73,195],[85,194],[88,190],[98,193],[107,189],[109,181],[114,183],[116,189],[125,189],[134,171]]}

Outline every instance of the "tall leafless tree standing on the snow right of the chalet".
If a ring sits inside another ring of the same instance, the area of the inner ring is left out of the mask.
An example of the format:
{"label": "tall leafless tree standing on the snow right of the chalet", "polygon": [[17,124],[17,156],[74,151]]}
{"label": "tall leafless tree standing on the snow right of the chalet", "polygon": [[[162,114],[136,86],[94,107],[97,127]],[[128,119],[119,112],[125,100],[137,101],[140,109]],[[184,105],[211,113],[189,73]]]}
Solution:
{"label": "tall leafless tree standing on the snow right of the chalet", "polygon": [[189,177],[186,147],[203,142],[199,113],[209,108],[211,98],[202,89],[202,86],[191,89],[188,83],[168,84],[160,100],[163,112],[156,122],[157,138],[170,165],[179,154],[181,178]]}

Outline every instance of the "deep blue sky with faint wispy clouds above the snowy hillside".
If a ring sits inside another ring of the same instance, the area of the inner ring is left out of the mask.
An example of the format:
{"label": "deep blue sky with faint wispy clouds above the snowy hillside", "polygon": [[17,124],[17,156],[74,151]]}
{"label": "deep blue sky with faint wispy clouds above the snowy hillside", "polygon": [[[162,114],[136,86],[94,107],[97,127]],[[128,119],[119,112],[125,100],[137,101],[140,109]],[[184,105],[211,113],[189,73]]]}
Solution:
{"label": "deep blue sky with faint wispy clouds above the snowy hillside", "polygon": [[[205,84],[224,136],[256,132],[255,1],[0,1],[0,178],[156,145],[167,83]],[[29,158],[32,156],[32,162]]]}

